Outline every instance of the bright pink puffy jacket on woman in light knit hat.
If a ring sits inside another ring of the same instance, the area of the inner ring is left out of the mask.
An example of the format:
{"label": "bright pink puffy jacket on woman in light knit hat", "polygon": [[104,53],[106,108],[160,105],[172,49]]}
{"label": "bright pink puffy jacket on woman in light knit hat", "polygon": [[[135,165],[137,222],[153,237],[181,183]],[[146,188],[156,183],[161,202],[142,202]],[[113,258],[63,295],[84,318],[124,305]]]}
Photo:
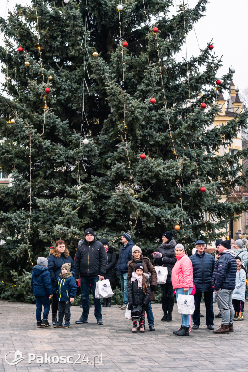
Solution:
{"label": "bright pink puffy jacket on woman in light knit hat", "polygon": [[182,255],[176,256],[177,262],[172,269],[171,281],[173,288],[193,288],[193,268],[192,262],[183,252]]}

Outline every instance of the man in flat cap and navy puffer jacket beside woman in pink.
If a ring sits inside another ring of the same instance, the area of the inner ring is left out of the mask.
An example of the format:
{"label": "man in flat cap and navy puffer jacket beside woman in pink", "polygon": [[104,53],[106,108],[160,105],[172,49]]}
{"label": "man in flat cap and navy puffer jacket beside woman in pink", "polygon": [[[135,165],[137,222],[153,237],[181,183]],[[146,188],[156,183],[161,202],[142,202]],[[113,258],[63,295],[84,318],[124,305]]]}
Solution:
{"label": "man in flat cap and navy puffer jacket beside woman in pink", "polygon": [[193,281],[196,287],[194,294],[195,311],[192,316],[194,322],[192,329],[198,329],[200,325],[200,301],[204,293],[204,302],[206,307],[206,325],[208,329],[214,329],[213,312],[213,287],[212,274],[215,268],[215,259],[211,254],[205,253],[205,242],[198,240],[195,244],[197,249],[195,254],[190,256],[193,266]]}

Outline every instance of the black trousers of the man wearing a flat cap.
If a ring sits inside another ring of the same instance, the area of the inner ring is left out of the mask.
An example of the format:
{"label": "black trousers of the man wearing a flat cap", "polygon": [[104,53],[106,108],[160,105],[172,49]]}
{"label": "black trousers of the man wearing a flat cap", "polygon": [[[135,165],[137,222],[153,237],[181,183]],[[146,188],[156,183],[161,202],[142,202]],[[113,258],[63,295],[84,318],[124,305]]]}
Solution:
{"label": "black trousers of the man wearing a flat cap", "polygon": [[195,324],[200,325],[200,301],[203,293],[206,307],[206,325],[214,325],[213,291],[196,291],[194,294],[195,311],[193,313],[192,320]]}

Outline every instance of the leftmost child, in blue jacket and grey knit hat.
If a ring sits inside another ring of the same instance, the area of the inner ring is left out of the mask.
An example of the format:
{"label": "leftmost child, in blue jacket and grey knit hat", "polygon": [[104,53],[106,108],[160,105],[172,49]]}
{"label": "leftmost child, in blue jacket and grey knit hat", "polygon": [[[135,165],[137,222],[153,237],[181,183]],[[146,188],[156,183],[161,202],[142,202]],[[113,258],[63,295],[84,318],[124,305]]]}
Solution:
{"label": "leftmost child, in blue jacket and grey knit hat", "polygon": [[[38,257],[37,266],[33,266],[31,287],[36,300],[36,319],[38,328],[50,328],[48,314],[50,310],[50,298],[53,294],[51,276],[47,269],[48,260]],[[44,306],[43,319],[41,320],[42,305]]]}

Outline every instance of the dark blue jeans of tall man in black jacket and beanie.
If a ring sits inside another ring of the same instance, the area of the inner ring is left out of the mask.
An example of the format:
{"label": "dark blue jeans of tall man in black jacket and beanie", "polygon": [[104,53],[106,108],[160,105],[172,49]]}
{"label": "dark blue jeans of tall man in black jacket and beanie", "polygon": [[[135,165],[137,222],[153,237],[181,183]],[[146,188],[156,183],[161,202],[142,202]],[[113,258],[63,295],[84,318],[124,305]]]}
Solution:
{"label": "dark blue jeans of tall man in black jacket and beanie", "polygon": [[98,275],[91,275],[89,277],[80,277],[80,289],[81,289],[81,298],[82,298],[82,315],[81,318],[83,320],[88,319],[89,311],[90,311],[90,285],[92,294],[94,297],[94,315],[97,320],[102,319],[101,315],[101,300],[100,298],[95,298],[95,290],[96,290],[96,282],[99,281]]}

